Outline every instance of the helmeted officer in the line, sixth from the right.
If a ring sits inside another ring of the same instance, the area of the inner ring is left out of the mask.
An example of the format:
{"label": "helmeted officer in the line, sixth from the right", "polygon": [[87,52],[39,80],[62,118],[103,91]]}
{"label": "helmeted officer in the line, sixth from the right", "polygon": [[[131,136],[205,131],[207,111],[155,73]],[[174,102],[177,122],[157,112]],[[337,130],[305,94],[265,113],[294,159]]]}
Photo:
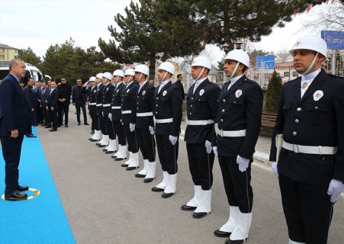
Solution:
{"label": "helmeted officer in the line, sixth from the right", "polygon": [[129,160],[122,164],[127,171],[138,168],[138,142],[136,138],[136,94],[138,85],[134,80],[134,69],[127,69],[124,73],[126,87],[122,93],[122,124],[128,141]]}

